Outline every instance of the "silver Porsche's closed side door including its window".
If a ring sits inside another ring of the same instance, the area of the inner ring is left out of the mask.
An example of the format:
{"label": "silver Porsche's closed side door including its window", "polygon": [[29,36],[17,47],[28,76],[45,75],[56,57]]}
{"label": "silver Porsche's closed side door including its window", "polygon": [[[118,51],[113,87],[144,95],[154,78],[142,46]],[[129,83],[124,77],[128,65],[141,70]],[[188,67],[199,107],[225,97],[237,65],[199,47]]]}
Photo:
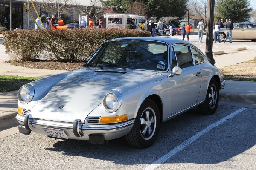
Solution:
{"label": "silver Porsche's closed side door including its window", "polygon": [[201,70],[194,65],[190,46],[174,45],[171,53],[171,68],[175,66],[176,58],[177,66],[182,69],[182,73],[169,76],[169,117],[195,105],[201,86]]}

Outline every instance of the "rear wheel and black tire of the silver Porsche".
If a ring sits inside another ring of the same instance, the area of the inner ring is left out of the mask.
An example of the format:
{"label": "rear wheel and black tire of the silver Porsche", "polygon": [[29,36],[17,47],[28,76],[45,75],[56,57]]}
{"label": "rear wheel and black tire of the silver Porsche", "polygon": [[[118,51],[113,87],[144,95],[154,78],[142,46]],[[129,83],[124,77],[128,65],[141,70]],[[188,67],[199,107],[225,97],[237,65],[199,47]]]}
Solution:
{"label": "rear wheel and black tire of the silver Porsche", "polygon": [[219,86],[215,79],[209,83],[204,103],[198,106],[198,110],[203,115],[212,115],[218,108]]}

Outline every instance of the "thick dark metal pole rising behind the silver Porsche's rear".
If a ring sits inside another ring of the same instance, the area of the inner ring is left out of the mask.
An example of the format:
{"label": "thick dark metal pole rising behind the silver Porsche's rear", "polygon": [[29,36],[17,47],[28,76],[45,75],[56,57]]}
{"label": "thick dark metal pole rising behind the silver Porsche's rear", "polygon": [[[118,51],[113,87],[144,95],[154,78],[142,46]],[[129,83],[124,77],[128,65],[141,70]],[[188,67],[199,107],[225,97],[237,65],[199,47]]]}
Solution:
{"label": "thick dark metal pole rising behind the silver Porsche's rear", "polygon": [[208,0],[208,12],[207,12],[207,31],[206,31],[206,46],[205,46],[205,56],[207,60],[214,65],[216,62],[213,58],[212,52],[212,37],[213,37],[213,23],[214,23],[214,4],[215,0]]}

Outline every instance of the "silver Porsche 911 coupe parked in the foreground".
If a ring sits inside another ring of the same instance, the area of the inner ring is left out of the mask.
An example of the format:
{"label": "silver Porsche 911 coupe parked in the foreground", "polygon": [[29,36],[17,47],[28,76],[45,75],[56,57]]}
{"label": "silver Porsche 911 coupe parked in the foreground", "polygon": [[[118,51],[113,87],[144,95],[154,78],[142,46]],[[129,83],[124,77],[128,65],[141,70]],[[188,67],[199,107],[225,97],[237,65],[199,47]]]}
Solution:
{"label": "silver Porsche 911 coupe parked in the foreground", "polygon": [[151,146],[160,124],[193,107],[213,114],[226,81],[191,43],[168,37],[108,40],[79,70],[18,92],[20,133]]}

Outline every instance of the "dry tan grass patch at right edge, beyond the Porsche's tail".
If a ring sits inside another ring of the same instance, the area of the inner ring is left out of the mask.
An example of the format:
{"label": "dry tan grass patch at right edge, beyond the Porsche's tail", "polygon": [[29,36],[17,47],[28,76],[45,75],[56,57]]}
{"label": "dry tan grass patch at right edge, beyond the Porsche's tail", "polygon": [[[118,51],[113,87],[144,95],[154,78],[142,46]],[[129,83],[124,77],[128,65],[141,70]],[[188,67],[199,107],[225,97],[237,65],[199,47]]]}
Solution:
{"label": "dry tan grass patch at right edge, beyond the Porsche's tail", "polygon": [[256,82],[256,57],[253,60],[221,68],[225,80]]}

